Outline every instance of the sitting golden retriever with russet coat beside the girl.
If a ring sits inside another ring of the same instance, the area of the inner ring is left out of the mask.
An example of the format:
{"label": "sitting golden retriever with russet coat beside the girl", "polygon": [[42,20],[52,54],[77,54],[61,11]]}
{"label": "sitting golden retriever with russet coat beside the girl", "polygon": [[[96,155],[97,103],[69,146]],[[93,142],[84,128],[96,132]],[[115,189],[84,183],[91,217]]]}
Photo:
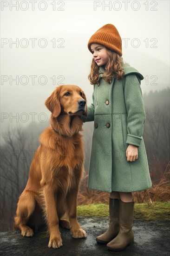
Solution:
{"label": "sitting golden retriever with russet coat beside the girl", "polygon": [[[52,112],[51,126],[40,135],[26,188],[14,217],[22,236],[33,236],[31,225],[41,225],[45,214],[50,235],[48,247],[59,248],[59,222],[75,238],[86,237],[77,217],[77,196],[84,168],[81,115],[87,115],[84,92],[75,85],[57,87],[45,102]],[[63,216],[69,217],[62,220]]]}

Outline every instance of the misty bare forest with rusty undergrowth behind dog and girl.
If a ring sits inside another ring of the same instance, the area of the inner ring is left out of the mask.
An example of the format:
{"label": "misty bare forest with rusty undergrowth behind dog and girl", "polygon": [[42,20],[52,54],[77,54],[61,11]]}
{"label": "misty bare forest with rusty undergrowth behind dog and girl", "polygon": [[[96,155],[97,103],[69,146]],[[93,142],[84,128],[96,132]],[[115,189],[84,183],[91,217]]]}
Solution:
{"label": "misty bare forest with rusty undergrowth behind dog and girl", "polygon": [[[170,192],[167,189],[170,174],[168,166],[170,161],[169,95],[169,88],[143,94],[146,113],[143,138],[152,187],[147,191],[134,192],[135,202],[170,200]],[[13,128],[11,126],[1,133],[3,141],[5,141],[0,146],[1,224],[13,223],[18,198],[26,186],[30,164],[39,146],[39,135],[48,125],[49,120],[44,123],[30,123],[27,128],[22,128],[19,124],[18,127]],[[87,122],[83,125],[85,173],[78,194],[78,204],[109,202],[109,193],[104,194],[87,188],[92,130],[93,122]],[[157,187],[159,188],[157,189]]]}

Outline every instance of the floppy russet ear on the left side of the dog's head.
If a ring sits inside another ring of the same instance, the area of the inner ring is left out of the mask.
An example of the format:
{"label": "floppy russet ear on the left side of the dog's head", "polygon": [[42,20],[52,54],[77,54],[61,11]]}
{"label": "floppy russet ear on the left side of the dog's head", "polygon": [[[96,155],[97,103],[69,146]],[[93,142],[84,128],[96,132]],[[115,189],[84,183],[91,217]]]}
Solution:
{"label": "floppy russet ear on the left side of the dog's head", "polygon": [[50,97],[45,101],[46,107],[52,112],[54,117],[58,117],[61,112],[61,105],[59,101],[60,89],[56,88]]}

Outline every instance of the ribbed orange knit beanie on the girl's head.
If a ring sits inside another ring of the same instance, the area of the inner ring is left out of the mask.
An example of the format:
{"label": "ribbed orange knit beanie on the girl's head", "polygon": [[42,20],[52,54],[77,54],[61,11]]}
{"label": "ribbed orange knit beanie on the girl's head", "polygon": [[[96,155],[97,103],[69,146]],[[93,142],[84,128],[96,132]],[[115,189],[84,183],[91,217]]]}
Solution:
{"label": "ribbed orange knit beanie on the girl's head", "polygon": [[91,36],[88,42],[88,48],[91,53],[92,50],[90,46],[92,43],[101,44],[122,56],[122,40],[117,28],[112,24],[106,24]]}

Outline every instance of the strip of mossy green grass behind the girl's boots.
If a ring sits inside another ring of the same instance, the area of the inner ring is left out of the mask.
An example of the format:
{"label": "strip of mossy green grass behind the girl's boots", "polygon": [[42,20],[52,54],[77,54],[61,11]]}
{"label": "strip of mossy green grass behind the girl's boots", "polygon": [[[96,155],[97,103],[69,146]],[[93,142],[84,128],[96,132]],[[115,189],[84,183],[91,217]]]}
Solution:
{"label": "strip of mossy green grass behind the girl's boots", "polygon": [[[105,203],[79,205],[78,216],[109,216],[109,205]],[[135,203],[134,219],[142,221],[170,221],[170,202]]]}

